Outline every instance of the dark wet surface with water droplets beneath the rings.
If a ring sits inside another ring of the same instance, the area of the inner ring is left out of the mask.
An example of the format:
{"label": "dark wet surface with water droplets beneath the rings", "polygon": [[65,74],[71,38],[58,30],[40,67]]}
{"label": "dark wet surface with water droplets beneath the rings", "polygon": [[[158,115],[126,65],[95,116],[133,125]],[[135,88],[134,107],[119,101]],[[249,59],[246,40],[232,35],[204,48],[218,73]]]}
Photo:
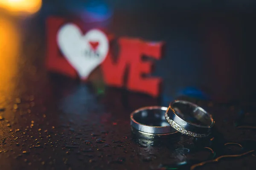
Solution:
{"label": "dark wet surface with water droplets beneath the rings", "polygon": [[94,86],[52,74],[36,84],[1,92],[3,170],[256,168],[255,113],[248,105],[189,99],[212,113],[213,136],[150,140],[131,134],[129,115],[160,100],[113,88],[97,94]]}

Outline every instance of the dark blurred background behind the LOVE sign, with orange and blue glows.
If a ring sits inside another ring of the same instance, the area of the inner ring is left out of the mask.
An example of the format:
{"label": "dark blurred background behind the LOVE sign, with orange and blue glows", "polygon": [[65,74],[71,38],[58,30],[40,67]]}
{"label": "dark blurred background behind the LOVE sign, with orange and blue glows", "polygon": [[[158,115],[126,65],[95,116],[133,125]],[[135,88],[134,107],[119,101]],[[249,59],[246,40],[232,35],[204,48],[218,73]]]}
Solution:
{"label": "dark blurred background behind the LOVE sign, with orange and blue glows", "polygon": [[[46,19],[57,16],[116,38],[165,41],[153,72],[163,78],[162,105],[180,96],[253,102],[255,8],[254,0],[0,0],[0,94],[40,93],[64,79],[49,79],[44,64]],[[104,94],[99,70],[90,79]]]}

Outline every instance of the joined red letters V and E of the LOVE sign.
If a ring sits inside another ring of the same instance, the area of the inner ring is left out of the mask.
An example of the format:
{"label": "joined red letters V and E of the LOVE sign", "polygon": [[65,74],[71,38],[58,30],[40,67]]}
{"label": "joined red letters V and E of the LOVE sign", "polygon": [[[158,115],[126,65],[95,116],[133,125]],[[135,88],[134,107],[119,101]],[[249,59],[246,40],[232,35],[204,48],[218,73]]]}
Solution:
{"label": "joined red letters V and E of the LOVE sign", "polygon": [[152,43],[140,39],[120,38],[119,47],[117,62],[114,62],[112,56],[108,55],[102,63],[105,82],[110,86],[124,87],[125,69],[129,67],[128,90],[154,97],[159,96],[162,80],[155,77],[142,77],[142,74],[151,74],[153,66],[150,61],[142,61],[142,56],[160,59],[163,42]]}

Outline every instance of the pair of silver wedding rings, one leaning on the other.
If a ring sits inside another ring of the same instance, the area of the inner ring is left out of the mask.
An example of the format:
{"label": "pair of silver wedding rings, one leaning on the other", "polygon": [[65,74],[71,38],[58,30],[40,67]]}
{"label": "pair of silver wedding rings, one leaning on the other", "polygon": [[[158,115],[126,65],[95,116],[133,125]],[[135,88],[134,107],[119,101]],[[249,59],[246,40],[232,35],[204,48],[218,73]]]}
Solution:
{"label": "pair of silver wedding rings, one leaning on the other", "polygon": [[149,139],[160,139],[177,132],[202,138],[211,134],[215,124],[211,114],[184,100],[175,100],[168,108],[140,108],[131,113],[130,119],[132,132]]}

